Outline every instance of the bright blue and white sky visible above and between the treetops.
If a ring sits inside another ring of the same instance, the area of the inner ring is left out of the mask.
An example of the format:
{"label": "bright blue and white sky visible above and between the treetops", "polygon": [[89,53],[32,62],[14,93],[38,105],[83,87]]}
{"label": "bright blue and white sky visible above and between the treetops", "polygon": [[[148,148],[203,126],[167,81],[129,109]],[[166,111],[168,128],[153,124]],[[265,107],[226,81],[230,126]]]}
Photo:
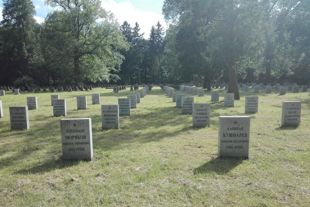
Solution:
{"label": "bright blue and white sky visible above and between the treetops", "polygon": [[[47,13],[53,8],[44,5],[44,0],[32,0],[37,11],[34,17],[38,23],[42,23]],[[163,0],[101,0],[101,6],[111,11],[120,25],[126,20],[131,27],[135,27],[138,22],[144,33],[144,38],[149,38],[152,25],[156,25],[157,21],[166,29],[166,22],[162,15]],[[2,20],[2,0],[0,0],[0,20]]]}

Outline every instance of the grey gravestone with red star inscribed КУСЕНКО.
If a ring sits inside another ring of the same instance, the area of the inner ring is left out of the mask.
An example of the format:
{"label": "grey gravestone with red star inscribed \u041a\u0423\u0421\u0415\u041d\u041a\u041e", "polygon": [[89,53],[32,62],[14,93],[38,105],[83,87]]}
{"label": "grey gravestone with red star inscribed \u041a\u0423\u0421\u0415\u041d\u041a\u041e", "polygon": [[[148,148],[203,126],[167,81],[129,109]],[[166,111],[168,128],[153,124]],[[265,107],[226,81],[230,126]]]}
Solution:
{"label": "grey gravestone with red star inscribed \u041a\u0423\u0421\u0415\u041d\u041a\u041e", "polygon": [[10,106],[11,130],[29,129],[28,106]]}

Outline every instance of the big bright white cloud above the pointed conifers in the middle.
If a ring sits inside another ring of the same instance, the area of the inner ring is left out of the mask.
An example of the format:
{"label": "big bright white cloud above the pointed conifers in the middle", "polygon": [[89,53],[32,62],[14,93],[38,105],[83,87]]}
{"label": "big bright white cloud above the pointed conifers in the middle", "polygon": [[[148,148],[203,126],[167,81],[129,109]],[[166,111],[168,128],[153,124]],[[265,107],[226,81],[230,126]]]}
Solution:
{"label": "big bright white cloud above the pointed conifers in the middle", "polygon": [[156,25],[159,20],[160,24],[166,29],[166,22],[162,14],[152,11],[141,11],[131,5],[130,2],[116,3],[114,0],[103,0],[101,6],[111,11],[120,25],[126,20],[131,27],[135,27],[135,22],[140,26],[140,33],[144,33],[144,38],[149,38],[152,25]]}

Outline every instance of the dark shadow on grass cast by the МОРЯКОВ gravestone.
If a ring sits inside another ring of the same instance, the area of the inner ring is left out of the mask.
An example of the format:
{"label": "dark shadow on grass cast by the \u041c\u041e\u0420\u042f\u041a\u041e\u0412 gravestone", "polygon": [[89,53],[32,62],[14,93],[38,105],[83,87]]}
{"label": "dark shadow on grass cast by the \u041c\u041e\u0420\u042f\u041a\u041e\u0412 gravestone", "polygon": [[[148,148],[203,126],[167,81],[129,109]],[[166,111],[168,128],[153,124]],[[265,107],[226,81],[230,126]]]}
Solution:
{"label": "dark shadow on grass cast by the \u041c\u041e\u0420\u042f\u041a\u041e\u0412 gravestone", "polygon": [[61,157],[58,160],[55,161],[46,161],[40,165],[33,166],[28,169],[22,169],[17,171],[16,173],[19,174],[35,174],[35,173],[45,173],[45,172],[50,172],[52,170],[56,169],[63,169],[63,168],[68,168],[73,165],[77,165],[81,162],[81,160],[78,161],[67,161],[67,160],[62,160]]}

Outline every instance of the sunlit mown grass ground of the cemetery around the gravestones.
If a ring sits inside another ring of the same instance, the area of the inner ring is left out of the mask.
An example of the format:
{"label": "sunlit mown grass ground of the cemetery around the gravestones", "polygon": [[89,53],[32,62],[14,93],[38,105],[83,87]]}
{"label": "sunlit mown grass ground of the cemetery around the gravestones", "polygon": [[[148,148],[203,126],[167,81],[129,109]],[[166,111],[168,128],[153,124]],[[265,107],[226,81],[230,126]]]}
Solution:
{"label": "sunlit mown grass ground of the cemetery around the gravestones", "polygon": [[[234,107],[224,107],[211,92],[194,97],[210,102],[210,127],[192,127],[192,115],[182,115],[172,98],[154,87],[131,116],[120,116],[120,129],[101,129],[101,105],[117,104],[128,89],[94,88],[79,92],[6,92],[0,97],[0,206],[309,206],[309,92],[279,96],[240,92]],[[54,117],[51,94],[66,99],[67,116]],[[9,106],[26,106],[30,129],[11,131]],[[87,110],[77,110],[76,96],[87,96]],[[244,114],[245,96],[259,96],[250,116],[249,159],[218,158],[219,116]],[[281,127],[282,101],[302,101],[299,126]],[[94,158],[64,161],[60,119],[91,118]]]}

